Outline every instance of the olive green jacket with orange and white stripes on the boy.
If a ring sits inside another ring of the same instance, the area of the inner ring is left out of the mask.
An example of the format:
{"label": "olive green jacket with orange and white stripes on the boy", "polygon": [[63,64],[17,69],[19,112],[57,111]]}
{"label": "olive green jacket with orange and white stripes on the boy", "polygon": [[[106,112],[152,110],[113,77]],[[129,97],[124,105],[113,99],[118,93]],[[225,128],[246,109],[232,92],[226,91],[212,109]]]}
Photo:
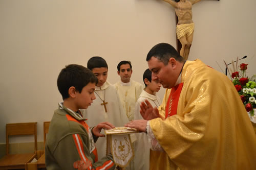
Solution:
{"label": "olive green jacket with orange and white stripes on the boy", "polygon": [[55,110],[46,140],[46,167],[51,169],[115,169],[112,155],[98,161],[93,135],[80,114],[62,106]]}

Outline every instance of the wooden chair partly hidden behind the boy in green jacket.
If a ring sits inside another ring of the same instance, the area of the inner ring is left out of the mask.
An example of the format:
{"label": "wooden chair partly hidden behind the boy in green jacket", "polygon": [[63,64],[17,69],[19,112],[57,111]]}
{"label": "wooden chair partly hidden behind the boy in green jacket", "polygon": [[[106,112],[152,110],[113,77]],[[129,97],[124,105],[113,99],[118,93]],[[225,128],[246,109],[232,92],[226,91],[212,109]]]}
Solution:
{"label": "wooden chair partly hidden behind the boy in green jacket", "polygon": [[37,168],[46,168],[46,155],[45,155],[45,146],[46,146],[46,135],[49,131],[50,122],[44,122],[44,151],[37,151],[37,162],[28,163],[27,169],[34,170]]}

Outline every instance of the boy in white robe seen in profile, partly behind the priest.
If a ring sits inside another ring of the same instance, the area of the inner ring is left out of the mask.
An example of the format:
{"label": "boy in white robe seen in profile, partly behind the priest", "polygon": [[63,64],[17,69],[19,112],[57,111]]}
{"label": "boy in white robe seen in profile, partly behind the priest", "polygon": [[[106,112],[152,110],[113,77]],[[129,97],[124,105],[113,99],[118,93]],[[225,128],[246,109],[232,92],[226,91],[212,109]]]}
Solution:
{"label": "boy in white robe seen in profile, partly behind the priest", "polygon": [[[143,74],[143,81],[145,88],[141,92],[139,99],[136,102],[136,110],[134,119],[143,119],[140,115],[140,103],[146,99],[151,103],[153,107],[159,107],[161,104],[160,98],[156,95],[161,88],[161,84],[154,80],[151,80],[152,72],[150,69],[146,69]],[[150,169],[150,145],[145,133],[139,133],[136,135],[137,141],[134,145],[134,167],[135,170],[148,170]]]}

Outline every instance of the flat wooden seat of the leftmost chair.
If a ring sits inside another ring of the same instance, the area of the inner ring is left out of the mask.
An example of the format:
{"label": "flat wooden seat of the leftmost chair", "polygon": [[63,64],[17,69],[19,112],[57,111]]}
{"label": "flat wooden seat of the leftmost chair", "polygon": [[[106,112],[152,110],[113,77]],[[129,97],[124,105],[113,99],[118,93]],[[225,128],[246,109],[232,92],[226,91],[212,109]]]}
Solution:
{"label": "flat wooden seat of the leftmost chair", "polygon": [[35,156],[36,155],[34,153],[6,155],[0,160],[0,168],[25,168],[25,164],[30,162],[33,158],[35,158]]}

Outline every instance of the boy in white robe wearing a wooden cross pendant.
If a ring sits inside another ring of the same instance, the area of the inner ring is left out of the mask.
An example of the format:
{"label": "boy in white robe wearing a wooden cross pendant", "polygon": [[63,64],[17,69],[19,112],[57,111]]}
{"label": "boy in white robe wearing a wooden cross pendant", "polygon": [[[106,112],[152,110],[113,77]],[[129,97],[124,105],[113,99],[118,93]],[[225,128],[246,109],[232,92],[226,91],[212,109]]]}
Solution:
{"label": "boy in white robe wearing a wooden cross pendant", "polygon": [[[108,64],[101,57],[92,57],[89,59],[87,67],[98,78],[98,84],[94,91],[96,99],[88,109],[82,110],[84,118],[90,120],[88,125],[92,127],[101,122],[110,122],[115,127],[124,126],[128,119],[123,112],[115,87],[106,80]],[[93,114],[91,114],[92,112]],[[106,155],[106,139],[99,138],[96,147],[99,148],[98,158],[101,159]]]}

